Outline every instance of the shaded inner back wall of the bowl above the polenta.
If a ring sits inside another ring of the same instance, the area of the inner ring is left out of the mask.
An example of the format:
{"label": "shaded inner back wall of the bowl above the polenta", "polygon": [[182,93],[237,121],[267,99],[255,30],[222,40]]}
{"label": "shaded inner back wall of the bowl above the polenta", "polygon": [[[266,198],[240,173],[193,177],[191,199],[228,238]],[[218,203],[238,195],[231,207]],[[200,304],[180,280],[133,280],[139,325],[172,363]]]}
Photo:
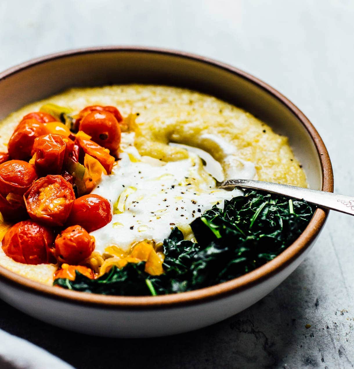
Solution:
{"label": "shaded inner back wall of the bowl above the polenta", "polygon": [[[7,74],[6,76],[4,76]],[[1,78],[2,77],[2,78]],[[316,146],[299,116],[283,97],[270,93],[243,72],[183,54],[140,49],[103,49],[63,54],[0,75],[0,119],[14,110],[70,87],[151,83],[187,87],[244,108],[289,138],[312,189],[322,188]]]}

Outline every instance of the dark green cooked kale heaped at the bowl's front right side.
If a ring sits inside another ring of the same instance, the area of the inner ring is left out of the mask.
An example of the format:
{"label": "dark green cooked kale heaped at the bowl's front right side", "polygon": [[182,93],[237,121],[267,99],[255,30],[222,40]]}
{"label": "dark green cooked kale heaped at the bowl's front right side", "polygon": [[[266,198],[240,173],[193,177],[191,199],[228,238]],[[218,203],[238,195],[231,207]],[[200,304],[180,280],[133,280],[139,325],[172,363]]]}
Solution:
{"label": "dark green cooked kale heaped at the bowl's front right side", "polygon": [[183,239],[175,227],[164,239],[164,273],[149,275],[145,262],[113,266],[90,279],[76,271],[74,281],[59,278],[61,287],[100,294],[141,296],[212,286],[241,276],[272,260],[309,223],[315,207],[304,200],[248,191],[214,206],[190,225],[197,242]]}

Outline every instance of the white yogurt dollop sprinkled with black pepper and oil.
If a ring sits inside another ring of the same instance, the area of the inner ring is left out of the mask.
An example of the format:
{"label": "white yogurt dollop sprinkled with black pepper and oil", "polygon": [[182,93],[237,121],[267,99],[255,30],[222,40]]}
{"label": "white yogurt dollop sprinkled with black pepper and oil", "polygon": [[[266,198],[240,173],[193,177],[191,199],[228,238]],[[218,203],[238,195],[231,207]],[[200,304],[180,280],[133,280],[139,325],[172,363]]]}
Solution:
{"label": "white yogurt dollop sprinkled with black pepper and oil", "polygon": [[[103,253],[112,245],[127,250],[144,239],[162,242],[175,225],[188,225],[215,204],[222,207],[224,199],[242,194],[236,189],[217,189],[196,154],[189,152],[187,159],[160,162],[140,156],[133,138],[131,133],[122,134],[121,160],[93,190],[110,201],[112,211],[119,198],[119,214],[113,214],[110,223],[91,232],[96,251]],[[250,166],[250,179],[253,173],[254,167]]]}

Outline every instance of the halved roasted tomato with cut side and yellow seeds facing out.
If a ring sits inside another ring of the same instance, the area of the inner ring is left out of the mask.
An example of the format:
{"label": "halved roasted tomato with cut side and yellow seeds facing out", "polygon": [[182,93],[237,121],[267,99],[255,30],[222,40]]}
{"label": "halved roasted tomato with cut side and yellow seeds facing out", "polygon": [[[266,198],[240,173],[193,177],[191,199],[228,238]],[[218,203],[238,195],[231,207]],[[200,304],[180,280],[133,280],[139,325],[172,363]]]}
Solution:
{"label": "halved roasted tomato with cut side and yellow seeds facing out", "polygon": [[39,178],[24,194],[30,217],[48,225],[63,225],[75,200],[73,186],[62,176]]}

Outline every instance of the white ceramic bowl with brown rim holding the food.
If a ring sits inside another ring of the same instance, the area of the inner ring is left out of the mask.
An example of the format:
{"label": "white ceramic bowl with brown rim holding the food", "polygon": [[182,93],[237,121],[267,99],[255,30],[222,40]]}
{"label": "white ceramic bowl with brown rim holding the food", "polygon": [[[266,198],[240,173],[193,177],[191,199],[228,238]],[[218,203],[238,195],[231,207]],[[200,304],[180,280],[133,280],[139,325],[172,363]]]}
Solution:
{"label": "white ceramic bowl with brown rim holding the food", "polygon": [[[44,56],[0,74],[0,118],[73,86],[152,83],[188,87],[242,107],[289,137],[309,186],[333,191],[331,162],[319,134],[278,91],[232,66],[161,49],[103,47]],[[317,209],[284,252],[216,286],[166,296],[103,296],[45,286],[0,267],[0,297],[69,330],[107,337],[156,337],[205,327],[238,313],[278,286],[312,248],[328,212]]]}

